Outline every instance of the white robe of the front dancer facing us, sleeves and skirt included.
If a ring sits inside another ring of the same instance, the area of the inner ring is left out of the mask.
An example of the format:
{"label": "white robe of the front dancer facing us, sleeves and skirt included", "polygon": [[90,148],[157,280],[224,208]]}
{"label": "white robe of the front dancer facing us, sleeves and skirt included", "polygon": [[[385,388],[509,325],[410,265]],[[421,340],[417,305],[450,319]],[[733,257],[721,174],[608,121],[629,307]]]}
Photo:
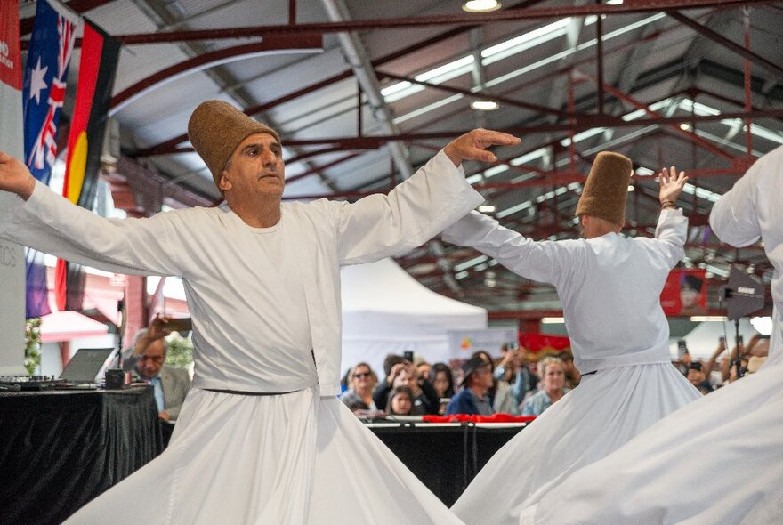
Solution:
{"label": "white robe of the front dancer facing us, sleeves and skirt included", "polygon": [[195,376],[169,447],[69,523],[459,523],[336,398],[339,267],[404,253],[482,201],[441,151],[388,196],[283,204],[265,229],[228,206],[107,220],[41,184],[0,210],[2,238],[181,276],[193,319]]}

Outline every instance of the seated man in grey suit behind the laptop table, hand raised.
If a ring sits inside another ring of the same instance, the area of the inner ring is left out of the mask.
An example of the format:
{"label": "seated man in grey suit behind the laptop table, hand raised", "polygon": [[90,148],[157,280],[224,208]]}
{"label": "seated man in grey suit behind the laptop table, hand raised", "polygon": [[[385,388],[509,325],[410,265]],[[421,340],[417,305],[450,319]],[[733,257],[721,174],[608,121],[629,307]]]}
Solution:
{"label": "seated man in grey suit behind the laptop table, hand raised", "polygon": [[133,370],[141,379],[149,381],[155,392],[157,416],[165,421],[174,421],[190,391],[190,374],[184,368],[164,365],[168,351],[165,336],[171,333],[165,327],[169,319],[157,317],[149,329],[141,329],[136,334],[133,348],[123,353],[123,369]]}

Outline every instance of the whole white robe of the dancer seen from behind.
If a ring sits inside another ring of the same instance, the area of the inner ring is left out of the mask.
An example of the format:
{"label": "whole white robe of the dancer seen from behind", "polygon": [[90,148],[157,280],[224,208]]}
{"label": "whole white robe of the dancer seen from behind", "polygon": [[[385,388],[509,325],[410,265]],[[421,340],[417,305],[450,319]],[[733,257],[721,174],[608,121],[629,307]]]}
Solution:
{"label": "whole white robe of the dancer seen from behind", "polygon": [[553,283],[575,365],[583,374],[597,370],[481,469],[452,507],[466,523],[517,523],[570,472],[700,397],[671,364],[660,306],[687,224],[681,210],[665,210],[656,238],[535,242],[473,212],[444,232],[444,240],[473,246],[522,277]]}

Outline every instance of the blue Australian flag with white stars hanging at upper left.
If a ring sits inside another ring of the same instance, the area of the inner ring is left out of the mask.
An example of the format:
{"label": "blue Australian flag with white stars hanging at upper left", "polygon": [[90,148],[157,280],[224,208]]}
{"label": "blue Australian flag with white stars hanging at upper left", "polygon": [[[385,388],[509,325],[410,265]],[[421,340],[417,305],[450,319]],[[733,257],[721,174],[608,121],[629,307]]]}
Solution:
{"label": "blue Australian flag with white stars hanging at upper left", "polygon": [[[78,17],[59,4],[38,0],[22,85],[25,162],[30,172],[49,183],[57,155],[57,125],[65,101],[68,66],[76,40]],[[27,254],[27,317],[49,313],[46,267],[35,250]]]}

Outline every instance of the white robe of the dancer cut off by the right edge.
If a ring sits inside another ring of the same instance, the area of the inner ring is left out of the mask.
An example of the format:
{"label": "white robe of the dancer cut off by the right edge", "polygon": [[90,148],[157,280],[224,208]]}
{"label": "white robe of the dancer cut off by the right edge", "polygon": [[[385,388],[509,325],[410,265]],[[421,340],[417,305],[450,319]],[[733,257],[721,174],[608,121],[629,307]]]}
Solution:
{"label": "white robe of the dancer cut off by the right edge", "polygon": [[[770,357],[758,372],[691,403],[570,476],[522,523],[783,523],[783,147],[713,207],[722,241],[763,239],[774,266]],[[581,387],[580,387],[581,388]]]}

